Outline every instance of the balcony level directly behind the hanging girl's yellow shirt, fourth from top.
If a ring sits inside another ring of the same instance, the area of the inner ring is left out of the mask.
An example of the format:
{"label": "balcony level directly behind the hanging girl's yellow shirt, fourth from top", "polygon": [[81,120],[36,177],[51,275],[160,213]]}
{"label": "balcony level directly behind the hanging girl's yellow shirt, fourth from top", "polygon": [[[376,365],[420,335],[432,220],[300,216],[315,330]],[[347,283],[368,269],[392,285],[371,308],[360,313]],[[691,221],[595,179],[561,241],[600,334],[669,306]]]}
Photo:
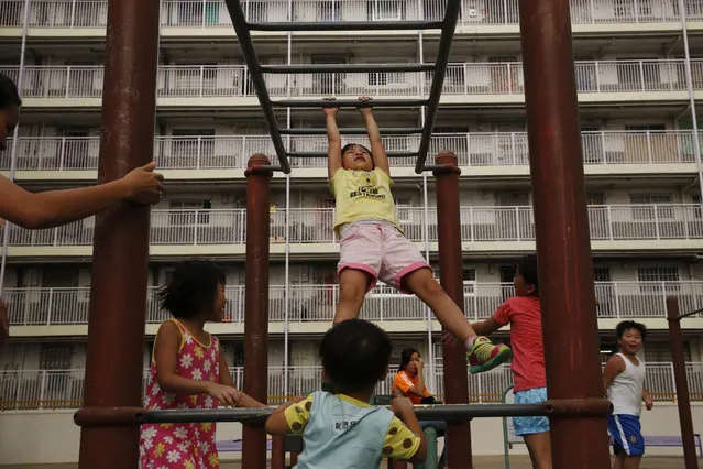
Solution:
{"label": "balcony level directly behind the hanging girl's yellow shirt, fourth from top", "polygon": [[[703,250],[701,206],[603,205],[590,206],[591,247],[603,252],[697,252]],[[405,236],[424,242],[427,232],[430,249],[437,250],[437,210],[428,207],[399,208]],[[239,255],[246,240],[245,209],[152,210],[151,255]],[[460,211],[462,248],[477,253],[515,253],[535,249],[535,225],[530,206],[462,207]],[[292,208],[288,237],[294,258],[338,255],[332,230],[334,209]],[[26,230],[10,225],[10,258],[53,255],[89,257],[92,250],[95,218],[46,230]],[[3,228],[4,229],[4,228]],[[281,257],[286,237],[286,210],[271,214],[271,253]],[[0,230],[1,231],[1,230]]]}

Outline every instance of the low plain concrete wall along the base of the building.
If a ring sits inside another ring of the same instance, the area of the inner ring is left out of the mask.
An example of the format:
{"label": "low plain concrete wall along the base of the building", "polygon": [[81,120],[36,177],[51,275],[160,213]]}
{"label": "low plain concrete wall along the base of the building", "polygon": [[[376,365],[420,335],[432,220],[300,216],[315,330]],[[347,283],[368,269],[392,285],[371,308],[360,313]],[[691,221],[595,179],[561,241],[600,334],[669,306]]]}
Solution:
{"label": "low plain concrete wall along the base of the building", "polygon": [[[703,428],[703,404],[693,406],[693,427]],[[503,426],[499,418],[481,421],[481,430],[473,425],[472,448],[475,455],[503,452]],[[658,403],[642,415],[645,435],[679,435],[679,414],[673,404]],[[241,438],[239,424],[220,424],[218,440]],[[78,460],[80,432],[73,423],[73,411],[29,411],[0,413],[1,465],[58,463]],[[516,446],[515,454],[525,452]],[[682,455],[681,448],[649,448],[648,455]],[[221,459],[239,458],[239,454],[222,454]]]}

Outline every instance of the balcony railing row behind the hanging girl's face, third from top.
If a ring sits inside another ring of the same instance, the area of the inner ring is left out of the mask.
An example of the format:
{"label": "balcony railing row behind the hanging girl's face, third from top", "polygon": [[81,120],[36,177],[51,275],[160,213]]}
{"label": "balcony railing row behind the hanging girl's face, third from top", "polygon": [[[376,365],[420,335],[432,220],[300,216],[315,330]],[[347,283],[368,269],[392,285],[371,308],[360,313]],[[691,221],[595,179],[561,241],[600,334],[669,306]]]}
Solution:
{"label": "balcony railing row behind the hanging girl's face, third from top", "polygon": [[[365,143],[362,138],[350,142]],[[386,135],[389,151],[417,151],[417,135]],[[583,163],[586,165],[694,163],[691,131],[602,131],[582,132]],[[327,138],[292,137],[293,152],[326,152]],[[23,137],[18,140],[20,171],[85,171],[98,168],[99,137]],[[452,150],[460,166],[527,166],[526,132],[438,133],[429,153]],[[154,140],[154,159],[161,170],[243,170],[254,153],[274,155],[267,135],[160,135]],[[325,167],[325,159],[295,159],[295,167]],[[394,167],[414,167],[415,159],[394,159]],[[0,170],[10,168],[10,152],[0,153]]]}

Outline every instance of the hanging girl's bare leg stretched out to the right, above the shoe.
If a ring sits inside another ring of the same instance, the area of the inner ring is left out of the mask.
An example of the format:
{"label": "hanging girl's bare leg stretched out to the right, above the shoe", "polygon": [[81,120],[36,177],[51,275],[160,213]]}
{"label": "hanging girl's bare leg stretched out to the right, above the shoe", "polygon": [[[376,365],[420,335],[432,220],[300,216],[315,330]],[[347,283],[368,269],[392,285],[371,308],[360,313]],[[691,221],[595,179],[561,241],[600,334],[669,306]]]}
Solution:
{"label": "hanging girl's bare leg stretched out to the right, above the shoe", "polygon": [[427,306],[432,309],[437,320],[449,330],[452,336],[465,342],[471,337],[475,337],[464,314],[459,306],[447,295],[444,290],[432,276],[429,269],[418,269],[403,279],[404,286],[408,292],[413,292]]}

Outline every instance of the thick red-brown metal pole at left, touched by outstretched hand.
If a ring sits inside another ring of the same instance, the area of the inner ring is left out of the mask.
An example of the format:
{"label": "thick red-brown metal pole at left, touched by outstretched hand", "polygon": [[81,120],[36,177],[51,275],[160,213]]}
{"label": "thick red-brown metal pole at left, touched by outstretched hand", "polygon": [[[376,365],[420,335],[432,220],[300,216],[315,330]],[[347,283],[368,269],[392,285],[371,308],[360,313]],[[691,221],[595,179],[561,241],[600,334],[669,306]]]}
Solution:
{"label": "thick red-brown metal pole at left, touched by outstretched hand", "polygon": [[[108,2],[98,181],[149,163],[154,148],[157,1]],[[96,216],[84,406],[142,404],[150,207]],[[106,444],[109,441],[109,444]],[[80,469],[135,468],[139,427],[84,427]]]}

